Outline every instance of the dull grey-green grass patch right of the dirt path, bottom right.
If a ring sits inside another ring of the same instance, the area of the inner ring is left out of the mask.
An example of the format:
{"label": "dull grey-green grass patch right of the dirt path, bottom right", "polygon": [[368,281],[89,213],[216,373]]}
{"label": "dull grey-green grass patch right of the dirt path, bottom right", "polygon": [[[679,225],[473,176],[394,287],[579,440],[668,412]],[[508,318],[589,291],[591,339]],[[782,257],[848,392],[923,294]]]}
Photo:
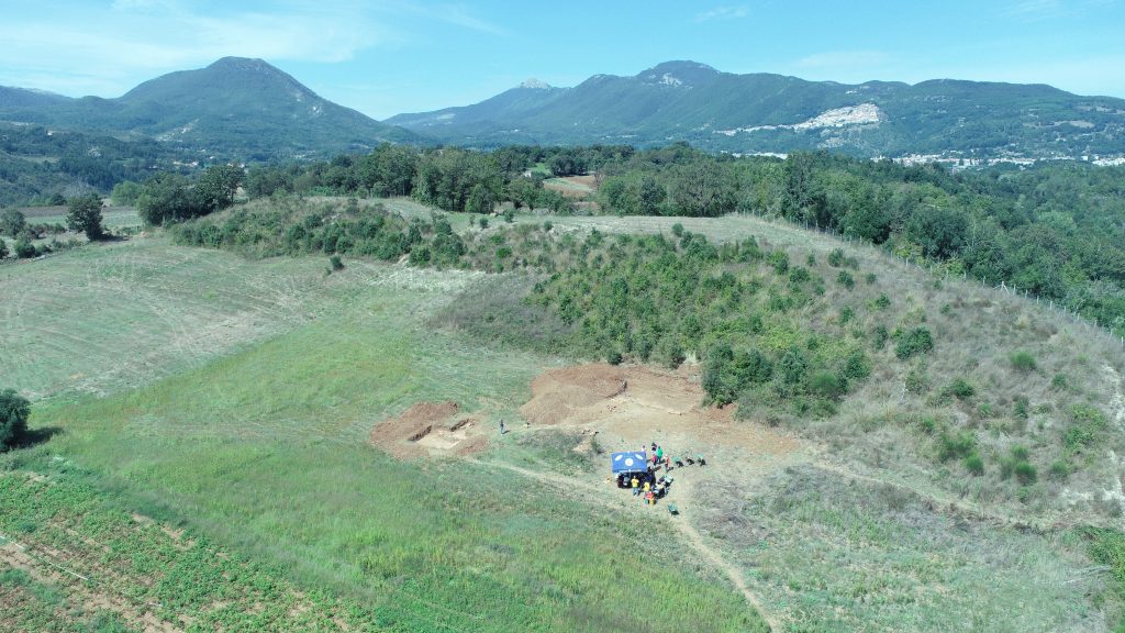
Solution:
{"label": "dull grey-green grass patch right of the dirt path, bottom right", "polygon": [[[908,491],[800,469],[703,526],[793,631],[1097,631],[1080,543],[971,523]],[[738,506],[741,506],[739,508]],[[742,529],[735,526],[742,525]]]}

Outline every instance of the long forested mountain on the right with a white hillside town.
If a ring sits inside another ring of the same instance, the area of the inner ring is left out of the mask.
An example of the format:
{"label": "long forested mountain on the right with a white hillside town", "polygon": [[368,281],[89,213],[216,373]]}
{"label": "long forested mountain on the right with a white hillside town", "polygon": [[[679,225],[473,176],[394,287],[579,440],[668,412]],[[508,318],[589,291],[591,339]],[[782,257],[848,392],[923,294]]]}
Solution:
{"label": "long forested mountain on the right with a white hillside town", "polygon": [[684,140],[729,152],[828,149],[864,157],[1125,154],[1125,100],[1042,84],[933,80],[844,84],[666,62],[574,88],[515,88],[387,123],[475,146]]}

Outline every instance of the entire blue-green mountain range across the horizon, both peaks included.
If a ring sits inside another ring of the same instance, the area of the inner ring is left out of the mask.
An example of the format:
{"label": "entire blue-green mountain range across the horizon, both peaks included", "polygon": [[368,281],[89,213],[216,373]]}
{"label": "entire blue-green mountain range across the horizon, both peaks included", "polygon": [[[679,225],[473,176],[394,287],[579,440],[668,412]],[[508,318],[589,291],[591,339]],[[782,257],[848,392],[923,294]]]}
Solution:
{"label": "entire blue-green mountain range across the horizon, both peaks included", "polygon": [[122,97],[78,99],[0,88],[0,121],[248,161],[326,158],[380,142],[686,141],[711,151],[827,149],[863,157],[1125,155],[1125,100],[1043,84],[933,80],[844,84],[665,62],[573,88],[529,80],[489,99],[377,122],[333,104],[262,60],[224,57],[146,81]]}

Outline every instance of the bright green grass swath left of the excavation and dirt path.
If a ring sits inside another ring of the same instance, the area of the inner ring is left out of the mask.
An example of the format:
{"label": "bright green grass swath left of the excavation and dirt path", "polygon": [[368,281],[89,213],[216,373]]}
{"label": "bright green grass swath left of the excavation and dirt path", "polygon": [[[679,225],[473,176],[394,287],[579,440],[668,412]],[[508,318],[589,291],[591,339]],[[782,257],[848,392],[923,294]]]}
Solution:
{"label": "bright green grass swath left of the excavation and dirt path", "polygon": [[[209,282],[258,266],[234,262]],[[323,264],[263,266],[299,276]],[[758,628],[740,596],[677,549],[647,545],[655,525],[504,471],[399,463],[367,446],[372,424],[420,400],[511,413],[554,363],[424,328],[468,277],[349,264],[305,324],[186,371],[172,363],[178,373],[134,390],[40,402],[33,426],[63,433],[6,458],[42,470],[58,455],[120,503],[272,561],[299,589],[356,600],[392,630]],[[644,572],[622,582],[627,569]]]}

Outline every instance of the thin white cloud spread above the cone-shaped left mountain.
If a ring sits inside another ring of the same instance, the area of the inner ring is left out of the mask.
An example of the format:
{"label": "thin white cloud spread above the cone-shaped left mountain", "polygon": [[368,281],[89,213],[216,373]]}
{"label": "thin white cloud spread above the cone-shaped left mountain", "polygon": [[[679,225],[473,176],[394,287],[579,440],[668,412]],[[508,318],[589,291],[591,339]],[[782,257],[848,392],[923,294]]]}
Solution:
{"label": "thin white cloud spread above the cone-shaped left mountain", "polygon": [[68,95],[116,96],[156,72],[198,68],[226,55],[341,62],[404,41],[370,6],[290,2],[271,12],[234,8],[204,15],[171,0],[116,0],[114,10],[68,21],[45,15],[0,23],[0,84]]}

